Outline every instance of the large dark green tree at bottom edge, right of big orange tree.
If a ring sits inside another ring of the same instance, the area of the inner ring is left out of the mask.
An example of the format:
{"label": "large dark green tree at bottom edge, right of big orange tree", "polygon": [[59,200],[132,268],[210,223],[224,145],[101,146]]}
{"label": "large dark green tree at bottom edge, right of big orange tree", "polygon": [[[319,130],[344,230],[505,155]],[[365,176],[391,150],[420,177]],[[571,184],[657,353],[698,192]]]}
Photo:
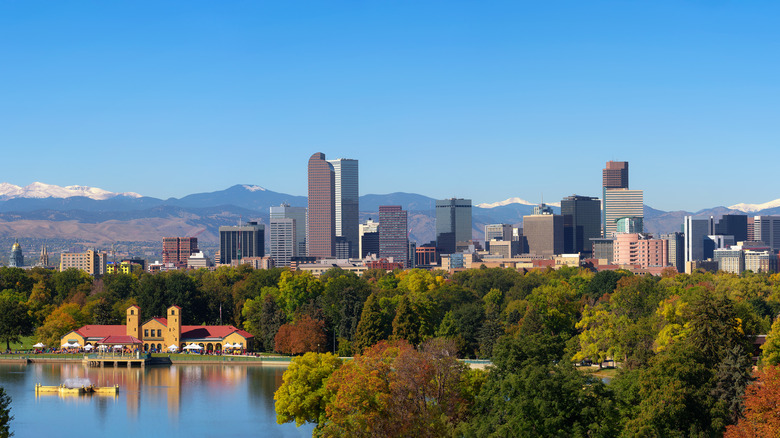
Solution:
{"label": "large dark green tree at bottom edge, right of big orange tree", "polygon": [[560,357],[549,335],[507,337],[474,403],[467,437],[614,436],[617,409],[609,389]]}

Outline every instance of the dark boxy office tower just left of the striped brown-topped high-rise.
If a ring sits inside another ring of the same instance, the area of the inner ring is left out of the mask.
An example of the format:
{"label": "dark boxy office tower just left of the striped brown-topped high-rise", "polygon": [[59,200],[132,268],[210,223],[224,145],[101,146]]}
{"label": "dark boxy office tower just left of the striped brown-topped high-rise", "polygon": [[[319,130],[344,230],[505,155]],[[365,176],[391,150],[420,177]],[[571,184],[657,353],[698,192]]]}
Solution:
{"label": "dark boxy office tower just left of the striped brown-topped high-rise", "polygon": [[572,195],[561,200],[563,250],[590,257],[590,239],[601,237],[601,201],[590,196]]}

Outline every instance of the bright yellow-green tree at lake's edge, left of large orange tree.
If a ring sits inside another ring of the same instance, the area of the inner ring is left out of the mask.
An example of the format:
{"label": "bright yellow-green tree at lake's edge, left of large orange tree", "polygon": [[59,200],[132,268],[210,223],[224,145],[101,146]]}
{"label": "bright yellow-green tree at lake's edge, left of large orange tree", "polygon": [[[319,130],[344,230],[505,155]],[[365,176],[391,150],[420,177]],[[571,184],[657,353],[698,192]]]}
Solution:
{"label": "bright yellow-green tree at lake's edge, left of large orange tree", "polygon": [[325,384],[341,366],[331,353],[306,353],[294,357],[282,376],[282,385],[274,393],[276,422],[323,423],[330,393]]}

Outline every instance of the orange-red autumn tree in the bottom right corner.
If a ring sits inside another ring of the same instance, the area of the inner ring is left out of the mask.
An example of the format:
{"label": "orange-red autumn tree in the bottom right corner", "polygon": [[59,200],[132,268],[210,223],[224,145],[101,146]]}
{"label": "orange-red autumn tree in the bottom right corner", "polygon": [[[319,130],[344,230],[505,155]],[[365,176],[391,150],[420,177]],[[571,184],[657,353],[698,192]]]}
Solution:
{"label": "orange-red autumn tree in the bottom right corner", "polygon": [[764,368],[745,391],[745,413],[726,428],[726,438],[780,436],[780,365]]}

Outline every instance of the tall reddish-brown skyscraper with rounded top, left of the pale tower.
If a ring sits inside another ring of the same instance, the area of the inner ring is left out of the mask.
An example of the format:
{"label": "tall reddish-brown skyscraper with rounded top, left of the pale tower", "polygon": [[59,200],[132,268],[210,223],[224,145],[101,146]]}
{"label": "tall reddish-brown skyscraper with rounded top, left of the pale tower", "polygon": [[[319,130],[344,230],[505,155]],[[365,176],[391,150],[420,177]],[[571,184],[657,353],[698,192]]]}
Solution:
{"label": "tall reddish-brown skyscraper with rounded top, left of the pale tower", "polygon": [[309,158],[309,216],[306,250],[310,257],[336,255],[336,176],[325,154]]}

